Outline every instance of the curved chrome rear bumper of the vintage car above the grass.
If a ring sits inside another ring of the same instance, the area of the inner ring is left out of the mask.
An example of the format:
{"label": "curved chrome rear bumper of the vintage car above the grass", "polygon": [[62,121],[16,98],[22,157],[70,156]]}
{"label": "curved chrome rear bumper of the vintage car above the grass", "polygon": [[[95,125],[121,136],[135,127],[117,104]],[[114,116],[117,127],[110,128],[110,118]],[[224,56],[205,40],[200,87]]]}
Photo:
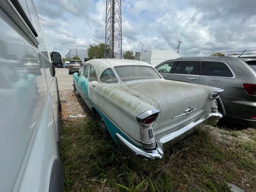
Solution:
{"label": "curved chrome rear bumper of the vintage car above the grass", "polygon": [[216,125],[220,118],[222,118],[222,114],[220,112],[209,113],[208,115],[202,116],[196,121],[187,124],[183,128],[166,134],[160,138],[159,141],[156,140],[156,147],[152,150],[140,149],[127,141],[118,133],[116,133],[116,139],[124,152],[133,160],[135,160],[134,162],[144,166],[157,166],[159,165],[158,162],[160,163],[164,159],[163,145],[173,144],[178,140],[181,140],[188,134],[194,132],[201,125]]}

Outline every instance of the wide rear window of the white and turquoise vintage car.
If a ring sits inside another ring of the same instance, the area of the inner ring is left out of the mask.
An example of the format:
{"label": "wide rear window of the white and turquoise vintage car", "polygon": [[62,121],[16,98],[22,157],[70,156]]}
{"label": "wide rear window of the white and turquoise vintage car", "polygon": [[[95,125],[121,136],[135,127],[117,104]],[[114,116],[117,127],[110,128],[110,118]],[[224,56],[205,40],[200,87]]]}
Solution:
{"label": "wide rear window of the white and turquoise vintage car", "polygon": [[149,66],[119,66],[116,73],[124,82],[141,79],[161,79],[154,68]]}

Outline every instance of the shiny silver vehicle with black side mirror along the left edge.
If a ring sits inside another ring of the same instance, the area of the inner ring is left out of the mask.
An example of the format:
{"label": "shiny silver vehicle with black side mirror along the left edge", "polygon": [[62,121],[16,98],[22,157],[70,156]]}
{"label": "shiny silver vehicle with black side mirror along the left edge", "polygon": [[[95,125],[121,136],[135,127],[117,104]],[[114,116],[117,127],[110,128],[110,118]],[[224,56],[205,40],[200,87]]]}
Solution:
{"label": "shiny silver vehicle with black side mirror along the left edge", "polygon": [[0,1],[0,191],[64,191],[58,84],[32,0]]}

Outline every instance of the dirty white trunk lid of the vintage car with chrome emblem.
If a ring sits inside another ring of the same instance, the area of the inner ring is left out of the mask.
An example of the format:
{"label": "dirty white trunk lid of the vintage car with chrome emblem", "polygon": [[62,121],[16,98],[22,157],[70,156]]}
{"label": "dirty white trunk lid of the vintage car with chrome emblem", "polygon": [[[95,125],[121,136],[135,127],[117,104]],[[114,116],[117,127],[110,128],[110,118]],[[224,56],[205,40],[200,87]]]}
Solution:
{"label": "dirty white trunk lid of the vintage car with chrome emblem", "polygon": [[[189,114],[200,111],[209,97],[209,92],[202,86],[169,80],[133,81],[119,86],[148,100],[160,110],[158,126],[154,130],[169,126],[183,120]],[[189,113],[192,110],[193,112]],[[183,116],[185,111],[189,114]]]}

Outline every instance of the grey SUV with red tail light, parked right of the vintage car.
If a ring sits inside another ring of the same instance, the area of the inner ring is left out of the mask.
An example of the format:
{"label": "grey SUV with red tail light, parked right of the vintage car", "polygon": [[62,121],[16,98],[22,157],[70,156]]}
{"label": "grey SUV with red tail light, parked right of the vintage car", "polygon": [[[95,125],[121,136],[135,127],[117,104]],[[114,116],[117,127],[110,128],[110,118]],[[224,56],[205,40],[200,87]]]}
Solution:
{"label": "grey SUV with red tail light, parked right of the vintage car", "polygon": [[232,57],[178,58],[155,68],[168,80],[224,89],[218,106],[225,119],[253,125],[256,124],[256,69],[252,60],[247,64]]}

